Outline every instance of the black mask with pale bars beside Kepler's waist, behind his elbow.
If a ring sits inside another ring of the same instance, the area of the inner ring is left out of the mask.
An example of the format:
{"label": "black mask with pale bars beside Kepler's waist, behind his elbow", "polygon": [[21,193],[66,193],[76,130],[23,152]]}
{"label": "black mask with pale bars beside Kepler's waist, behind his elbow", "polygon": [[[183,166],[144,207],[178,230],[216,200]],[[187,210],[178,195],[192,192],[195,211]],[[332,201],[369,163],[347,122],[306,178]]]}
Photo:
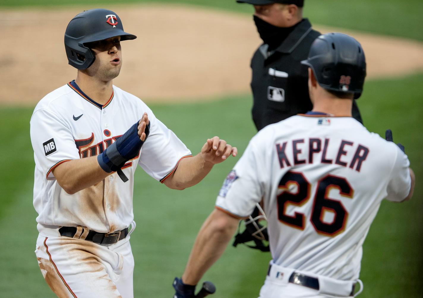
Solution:
{"label": "black mask with pale bars beside Kepler's waist, behind his elbow", "polygon": [[[263,221],[266,221],[266,223],[262,224]],[[245,229],[241,232],[243,226]],[[246,242],[250,241],[253,241],[255,246],[246,244]],[[242,243],[250,248],[270,251],[269,244],[265,243],[267,241],[269,241],[269,235],[267,234],[267,218],[260,204],[256,204],[253,213],[251,213],[248,219],[239,222],[238,233],[235,235],[235,240],[232,245],[236,247],[238,244]]]}

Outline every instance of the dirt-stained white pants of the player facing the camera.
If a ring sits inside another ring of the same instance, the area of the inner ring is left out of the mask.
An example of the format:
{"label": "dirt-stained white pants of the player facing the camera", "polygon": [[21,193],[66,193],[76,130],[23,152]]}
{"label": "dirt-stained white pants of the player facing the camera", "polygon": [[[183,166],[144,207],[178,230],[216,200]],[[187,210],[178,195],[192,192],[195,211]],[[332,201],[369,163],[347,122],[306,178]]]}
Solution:
{"label": "dirt-stained white pants of the player facing the camera", "polygon": [[38,235],[41,273],[59,298],[133,298],[134,257],[129,235],[111,245]]}

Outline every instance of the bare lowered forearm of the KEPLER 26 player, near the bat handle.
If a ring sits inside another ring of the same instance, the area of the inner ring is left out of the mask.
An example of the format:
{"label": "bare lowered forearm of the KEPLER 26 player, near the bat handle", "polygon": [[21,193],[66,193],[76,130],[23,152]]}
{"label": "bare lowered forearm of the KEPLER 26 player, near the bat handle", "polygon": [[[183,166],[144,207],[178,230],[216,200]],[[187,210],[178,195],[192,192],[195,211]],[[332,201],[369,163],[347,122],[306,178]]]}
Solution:
{"label": "bare lowered forearm of the KEPLER 26 player, near the bat handle", "polygon": [[182,275],[184,284],[195,285],[220,258],[236,231],[239,220],[214,210],[203,223]]}

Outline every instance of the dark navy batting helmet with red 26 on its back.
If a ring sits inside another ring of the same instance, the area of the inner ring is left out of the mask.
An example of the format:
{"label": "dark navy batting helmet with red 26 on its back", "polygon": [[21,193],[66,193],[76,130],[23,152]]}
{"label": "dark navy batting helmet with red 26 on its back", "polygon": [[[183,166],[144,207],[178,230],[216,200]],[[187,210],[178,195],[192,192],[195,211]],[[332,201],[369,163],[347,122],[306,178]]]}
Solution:
{"label": "dark navy batting helmet with red 26 on its back", "polygon": [[330,91],[363,92],[366,60],[361,44],[343,33],[319,36],[310,48],[308,59],[301,61],[310,66],[319,85]]}

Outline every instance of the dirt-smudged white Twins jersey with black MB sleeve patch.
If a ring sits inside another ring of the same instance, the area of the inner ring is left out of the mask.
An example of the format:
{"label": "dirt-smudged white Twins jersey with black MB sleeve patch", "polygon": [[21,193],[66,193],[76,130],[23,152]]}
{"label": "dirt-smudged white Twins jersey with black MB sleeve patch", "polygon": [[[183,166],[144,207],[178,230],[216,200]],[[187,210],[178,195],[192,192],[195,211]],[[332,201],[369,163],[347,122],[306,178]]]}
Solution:
{"label": "dirt-smudged white Twins jersey with black MB sleeve patch", "polygon": [[[150,135],[140,155],[122,167],[129,181],[123,182],[113,173],[73,195],[60,187],[52,173],[55,167],[100,154],[139,121],[144,112],[151,123]],[[30,133],[36,165],[33,203],[40,232],[60,226],[85,226],[101,233],[125,229],[134,218],[133,177],[137,164],[163,182],[181,158],[191,156],[144,102],[116,86],[105,105],[90,99],[74,81],[52,91],[36,106]],[[57,231],[55,235],[60,236]]]}

